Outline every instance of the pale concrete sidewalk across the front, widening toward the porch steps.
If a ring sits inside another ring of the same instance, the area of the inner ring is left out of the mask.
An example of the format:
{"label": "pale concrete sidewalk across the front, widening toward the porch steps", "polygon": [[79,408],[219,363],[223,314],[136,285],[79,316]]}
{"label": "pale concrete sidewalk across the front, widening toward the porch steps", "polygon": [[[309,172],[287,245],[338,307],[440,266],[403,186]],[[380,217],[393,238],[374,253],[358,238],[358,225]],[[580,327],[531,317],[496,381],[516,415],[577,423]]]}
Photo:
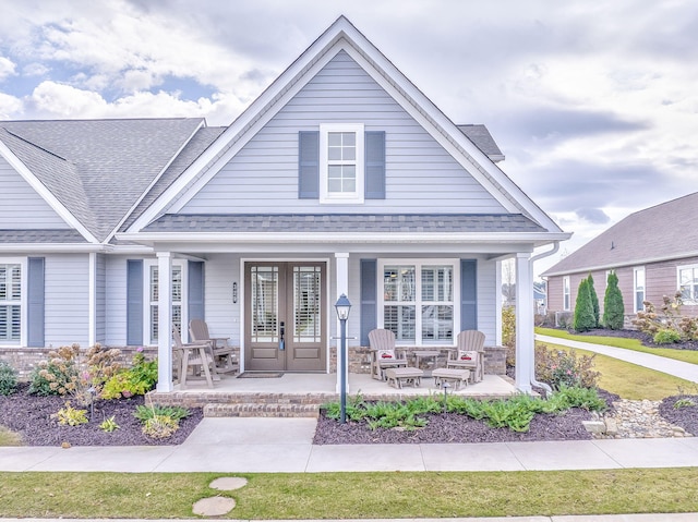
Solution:
{"label": "pale concrete sidewalk across the front, widening toward the porch steps", "polygon": [[2,447],[0,471],[318,473],[698,466],[697,437],[313,446],[315,426],[312,418],[204,418],[180,446]]}

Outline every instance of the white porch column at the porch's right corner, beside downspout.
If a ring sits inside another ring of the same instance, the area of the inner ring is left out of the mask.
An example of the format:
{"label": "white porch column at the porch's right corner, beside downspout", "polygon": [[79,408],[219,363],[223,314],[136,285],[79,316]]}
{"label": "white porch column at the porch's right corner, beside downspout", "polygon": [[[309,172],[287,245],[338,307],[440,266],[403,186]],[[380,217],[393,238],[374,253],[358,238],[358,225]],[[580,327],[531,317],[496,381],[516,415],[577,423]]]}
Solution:
{"label": "white porch column at the porch's right corner, beside downspout", "polygon": [[534,368],[533,266],[530,253],[516,254],[516,387],[530,393]]}

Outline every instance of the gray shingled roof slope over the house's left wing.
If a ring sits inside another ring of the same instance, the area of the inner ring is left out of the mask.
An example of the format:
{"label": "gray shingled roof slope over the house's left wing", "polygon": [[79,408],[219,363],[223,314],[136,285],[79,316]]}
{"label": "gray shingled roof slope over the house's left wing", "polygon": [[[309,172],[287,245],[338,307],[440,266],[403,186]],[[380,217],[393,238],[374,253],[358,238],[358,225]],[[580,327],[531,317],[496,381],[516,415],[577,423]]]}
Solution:
{"label": "gray shingled roof slope over the house's left wing", "polygon": [[0,122],[0,141],[98,241],[108,239],[201,118]]}

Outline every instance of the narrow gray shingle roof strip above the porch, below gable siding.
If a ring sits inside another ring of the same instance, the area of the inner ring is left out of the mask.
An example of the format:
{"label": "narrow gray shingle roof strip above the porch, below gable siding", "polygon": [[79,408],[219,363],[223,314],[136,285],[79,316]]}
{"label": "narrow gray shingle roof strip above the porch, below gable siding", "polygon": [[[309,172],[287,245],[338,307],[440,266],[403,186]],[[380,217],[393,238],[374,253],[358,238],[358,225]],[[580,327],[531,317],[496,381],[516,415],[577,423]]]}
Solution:
{"label": "narrow gray shingle roof strip above the porch, below gable siding", "polygon": [[165,215],[145,232],[545,232],[520,214]]}

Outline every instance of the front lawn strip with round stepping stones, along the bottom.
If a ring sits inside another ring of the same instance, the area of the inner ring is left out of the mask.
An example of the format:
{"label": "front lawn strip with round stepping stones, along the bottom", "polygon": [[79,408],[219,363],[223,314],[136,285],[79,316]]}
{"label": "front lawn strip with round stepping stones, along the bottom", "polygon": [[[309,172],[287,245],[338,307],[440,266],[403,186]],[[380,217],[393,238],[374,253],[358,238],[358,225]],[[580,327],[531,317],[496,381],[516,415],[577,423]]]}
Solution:
{"label": "front lawn strip with round stepping stones, along the bottom", "polygon": [[192,505],[236,499],[231,519],[375,519],[698,511],[695,468],[554,472],[240,474],[0,473],[0,517],[192,518]]}

